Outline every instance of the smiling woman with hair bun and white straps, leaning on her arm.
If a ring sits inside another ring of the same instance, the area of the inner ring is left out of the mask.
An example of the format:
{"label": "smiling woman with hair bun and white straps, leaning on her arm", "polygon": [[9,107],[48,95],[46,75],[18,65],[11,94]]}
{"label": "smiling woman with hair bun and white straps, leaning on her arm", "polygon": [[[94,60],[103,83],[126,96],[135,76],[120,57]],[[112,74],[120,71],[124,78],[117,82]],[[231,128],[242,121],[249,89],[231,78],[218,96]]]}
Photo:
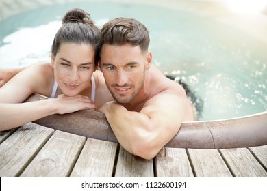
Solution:
{"label": "smiling woman with hair bun and white straps, leaning on her arm", "polygon": [[[113,100],[97,71],[100,31],[90,15],[74,9],[62,23],[51,48],[51,63],[25,68],[0,88],[0,131]],[[23,103],[33,93],[53,99]]]}

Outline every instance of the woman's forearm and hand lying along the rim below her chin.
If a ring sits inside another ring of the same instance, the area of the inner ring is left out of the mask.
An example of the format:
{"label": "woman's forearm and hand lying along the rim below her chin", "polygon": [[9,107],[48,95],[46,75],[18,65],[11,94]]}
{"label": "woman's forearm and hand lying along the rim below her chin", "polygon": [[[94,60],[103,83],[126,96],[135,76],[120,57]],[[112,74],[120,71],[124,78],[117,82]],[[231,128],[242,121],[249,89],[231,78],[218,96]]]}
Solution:
{"label": "woman's forearm and hand lying along the rim below her chin", "polygon": [[47,115],[72,113],[94,107],[92,101],[82,95],[67,97],[59,95],[55,99],[27,103],[0,103],[0,132],[22,126]]}

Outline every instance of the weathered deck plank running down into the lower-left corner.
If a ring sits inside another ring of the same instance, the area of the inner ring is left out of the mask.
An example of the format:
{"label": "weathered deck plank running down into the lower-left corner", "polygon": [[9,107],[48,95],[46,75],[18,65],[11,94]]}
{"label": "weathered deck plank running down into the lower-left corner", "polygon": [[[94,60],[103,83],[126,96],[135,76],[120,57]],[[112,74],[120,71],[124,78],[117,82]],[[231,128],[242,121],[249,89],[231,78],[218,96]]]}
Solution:
{"label": "weathered deck plank running down into the lower-left corner", "polygon": [[18,177],[54,130],[27,123],[0,145],[0,177]]}

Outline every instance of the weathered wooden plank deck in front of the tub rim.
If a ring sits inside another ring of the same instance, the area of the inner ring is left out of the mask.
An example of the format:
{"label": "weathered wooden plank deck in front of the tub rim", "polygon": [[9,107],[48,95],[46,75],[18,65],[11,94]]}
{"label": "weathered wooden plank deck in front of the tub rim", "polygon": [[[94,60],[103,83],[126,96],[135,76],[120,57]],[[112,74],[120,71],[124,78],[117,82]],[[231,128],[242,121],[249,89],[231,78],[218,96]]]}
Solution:
{"label": "weathered wooden plank deck in front of the tub rim", "polygon": [[117,143],[27,123],[0,132],[0,177],[267,177],[267,145],[163,148],[153,160]]}

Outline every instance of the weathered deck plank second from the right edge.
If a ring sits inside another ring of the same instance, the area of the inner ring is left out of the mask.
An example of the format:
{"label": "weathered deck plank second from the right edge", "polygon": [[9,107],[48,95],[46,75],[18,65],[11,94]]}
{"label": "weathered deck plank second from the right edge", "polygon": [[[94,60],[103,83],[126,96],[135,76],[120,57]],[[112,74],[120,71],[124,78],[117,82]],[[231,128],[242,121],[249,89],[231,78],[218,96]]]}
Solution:
{"label": "weathered deck plank second from the right edge", "polygon": [[267,177],[267,173],[246,148],[220,149],[234,177]]}

